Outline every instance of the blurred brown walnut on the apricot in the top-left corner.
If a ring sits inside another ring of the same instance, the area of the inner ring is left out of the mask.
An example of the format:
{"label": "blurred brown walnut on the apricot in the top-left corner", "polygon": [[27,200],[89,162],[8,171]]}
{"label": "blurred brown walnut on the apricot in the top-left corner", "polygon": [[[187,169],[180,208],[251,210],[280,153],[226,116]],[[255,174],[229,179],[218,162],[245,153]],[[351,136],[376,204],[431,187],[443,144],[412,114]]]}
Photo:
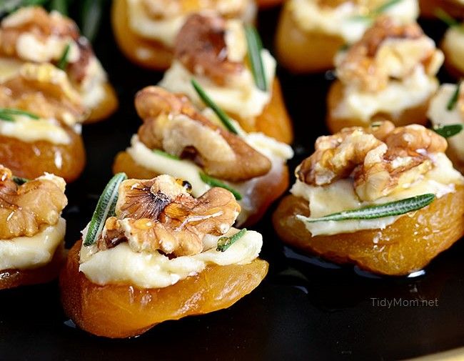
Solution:
{"label": "blurred brown walnut on the apricot in the top-left corner", "polygon": [[89,41],[79,35],[74,21],[58,11],[49,14],[34,6],[23,7],[1,21],[0,55],[56,63],[66,46],[71,46],[66,70],[71,80],[80,84],[89,70],[94,51]]}

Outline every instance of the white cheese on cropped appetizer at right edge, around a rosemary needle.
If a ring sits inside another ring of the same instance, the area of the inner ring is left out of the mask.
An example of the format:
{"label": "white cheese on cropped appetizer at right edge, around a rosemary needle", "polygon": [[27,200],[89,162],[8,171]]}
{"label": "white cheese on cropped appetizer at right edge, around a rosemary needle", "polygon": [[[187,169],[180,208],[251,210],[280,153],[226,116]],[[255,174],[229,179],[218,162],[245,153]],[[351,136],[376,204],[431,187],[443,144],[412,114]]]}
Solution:
{"label": "white cheese on cropped appetizer at right edge, around a rosemary needle", "polygon": [[[459,104],[456,104],[452,110],[447,109],[456,88],[455,84],[443,84],[430,101],[427,116],[433,125],[464,124],[463,110]],[[464,132],[460,132],[447,140],[458,158],[464,161]]]}

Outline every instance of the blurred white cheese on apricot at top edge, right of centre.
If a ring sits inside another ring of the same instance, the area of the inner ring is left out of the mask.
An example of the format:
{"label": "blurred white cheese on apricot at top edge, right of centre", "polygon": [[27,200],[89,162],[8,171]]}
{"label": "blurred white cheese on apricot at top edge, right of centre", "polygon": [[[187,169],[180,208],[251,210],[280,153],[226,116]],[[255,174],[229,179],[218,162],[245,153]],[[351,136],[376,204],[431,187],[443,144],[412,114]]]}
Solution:
{"label": "blurred white cheese on apricot at top edge, right of centre", "polygon": [[[386,1],[385,1],[386,2]],[[336,8],[319,6],[316,0],[291,0],[289,9],[303,31],[317,31],[340,36],[348,44],[358,41],[372,24],[369,19],[360,19],[365,6],[346,1]],[[419,16],[417,0],[401,0],[386,9],[387,14],[400,24],[408,24]]]}

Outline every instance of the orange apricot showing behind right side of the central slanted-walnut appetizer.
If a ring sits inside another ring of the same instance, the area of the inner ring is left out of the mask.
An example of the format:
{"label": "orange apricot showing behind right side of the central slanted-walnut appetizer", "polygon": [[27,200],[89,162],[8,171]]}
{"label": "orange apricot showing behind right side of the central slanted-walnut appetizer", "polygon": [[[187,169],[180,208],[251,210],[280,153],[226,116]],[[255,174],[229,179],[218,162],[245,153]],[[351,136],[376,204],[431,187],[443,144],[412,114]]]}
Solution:
{"label": "orange apricot showing behind right side of the central slanted-walnut appetizer", "polygon": [[236,114],[230,114],[236,119],[246,132],[262,132],[279,142],[291,144],[293,142],[293,128],[286,105],[283,102],[281,84],[274,79],[272,84],[271,101],[264,107],[263,112],[253,122],[241,119]]}

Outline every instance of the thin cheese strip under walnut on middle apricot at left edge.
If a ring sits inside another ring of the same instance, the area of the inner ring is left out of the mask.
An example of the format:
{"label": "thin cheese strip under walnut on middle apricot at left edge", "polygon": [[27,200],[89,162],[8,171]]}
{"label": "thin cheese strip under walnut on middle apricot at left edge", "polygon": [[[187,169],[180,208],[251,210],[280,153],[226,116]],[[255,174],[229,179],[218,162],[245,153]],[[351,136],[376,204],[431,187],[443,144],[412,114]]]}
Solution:
{"label": "thin cheese strip under walnut on middle apricot at left edge", "polygon": [[52,144],[71,143],[71,137],[56,119],[31,119],[24,115],[15,115],[14,122],[0,120],[0,134],[22,142],[44,140]]}

